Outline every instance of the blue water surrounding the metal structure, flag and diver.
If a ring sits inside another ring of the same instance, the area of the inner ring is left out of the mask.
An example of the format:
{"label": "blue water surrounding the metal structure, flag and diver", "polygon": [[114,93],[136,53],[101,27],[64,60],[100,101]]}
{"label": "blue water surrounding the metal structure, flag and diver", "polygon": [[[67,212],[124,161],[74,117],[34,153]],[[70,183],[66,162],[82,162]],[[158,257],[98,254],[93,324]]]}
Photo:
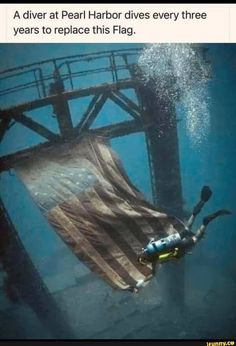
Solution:
{"label": "blue water surrounding the metal structure, flag and diver", "polygon": [[[211,77],[192,94],[189,92],[182,103],[176,104],[184,208],[190,212],[199,199],[201,187],[209,185],[213,196],[198,217],[195,229],[201,224],[202,216],[217,209],[229,209],[232,215],[210,224],[205,238],[192,255],[186,256],[184,308],[169,297],[166,284],[170,281],[166,283],[164,266],[156,279],[138,295],[114,291],[95,275],[91,279],[89,269],[49,226],[16,173],[11,170],[0,175],[1,199],[32,262],[73,330],[73,337],[236,338],[236,45],[201,46],[208,49]],[[67,55],[143,47],[142,44],[1,44],[0,66],[5,70]],[[177,48],[173,50],[173,47]],[[178,47],[181,45],[168,46],[165,54],[178,52]],[[149,48],[152,50],[146,52],[140,65],[146,71],[152,67],[155,77],[154,70],[158,67],[160,71],[163,61],[157,59],[158,46]],[[183,55],[173,55],[173,62],[177,64],[180,56]],[[181,62],[187,64],[188,58],[185,56]],[[177,72],[178,68],[186,70],[188,67],[176,66]],[[178,76],[180,84],[184,77]],[[84,78],[80,85],[105,82],[108,82],[106,75],[96,80]],[[181,88],[185,87],[182,83]],[[22,93],[15,99],[1,97],[0,108],[20,103],[28,96],[31,97]],[[129,96],[135,98],[132,92]],[[78,122],[87,104],[86,99],[70,101],[74,123]],[[105,107],[94,127],[130,120],[114,103],[107,102]],[[50,107],[29,114],[58,132]],[[40,142],[40,136],[17,124],[7,131],[0,144],[0,155]],[[132,182],[152,201],[143,133],[112,139],[111,143]],[[8,299],[3,290],[3,276],[1,272],[0,338],[54,338],[29,306]],[[175,290],[174,282],[172,285]]]}

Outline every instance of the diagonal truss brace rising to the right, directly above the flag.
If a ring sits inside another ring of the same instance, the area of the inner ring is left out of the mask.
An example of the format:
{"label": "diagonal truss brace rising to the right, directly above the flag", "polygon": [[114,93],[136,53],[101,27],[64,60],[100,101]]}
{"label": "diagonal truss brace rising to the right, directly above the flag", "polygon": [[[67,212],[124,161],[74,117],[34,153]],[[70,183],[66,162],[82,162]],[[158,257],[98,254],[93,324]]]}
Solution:
{"label": "diagonal truss brace rising to the right, directly above the flag", "polygon": [[83,131],[86,131],[89,129],[89,127],[92,125],[92,123],[96,119],[98,113],[102,109],[104,103],[106,102],[107,97],[108,97],[107,93],[98,94],[94,96],[87,110],[82,116],[81,121],[76,126],[76,130],[78,134],[81,134]]}

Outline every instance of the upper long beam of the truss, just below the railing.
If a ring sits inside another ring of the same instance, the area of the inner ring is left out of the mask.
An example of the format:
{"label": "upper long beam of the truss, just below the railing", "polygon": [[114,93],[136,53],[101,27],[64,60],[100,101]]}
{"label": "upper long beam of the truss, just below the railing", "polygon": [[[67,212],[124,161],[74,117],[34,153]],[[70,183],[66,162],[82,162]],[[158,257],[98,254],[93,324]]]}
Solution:
{"label": "upper long beam of the truss, just below the railing", "polygon": [[[102,94],[102,93],[110,92],[113,90],[129,89],[129,88],[133,88],[134,85],[135,85],[135,81],[132,79],[129,79],[129,80],[125,80],[125,81],[121,81],[117,83],[108,83],[108,84],[102,84],[102,85],[98,85],[98,86],[94,86],[90,88],[65,91],[62,93],[62,95],[65,99],[72,100],[72,99],[76,99],[80,97],[86,97],[86,96],[95,95],[95,94]],[[57,101],[57,95],[51,95],[43,99],[26,102],[14,107],[9,107],[7,109],[0,111],[0,118],[3,119],[4,117],[7,117],[7,114],[12,112],[24,113],[25,111],[30,111],[40,107],[52,105],[56,101]]]}

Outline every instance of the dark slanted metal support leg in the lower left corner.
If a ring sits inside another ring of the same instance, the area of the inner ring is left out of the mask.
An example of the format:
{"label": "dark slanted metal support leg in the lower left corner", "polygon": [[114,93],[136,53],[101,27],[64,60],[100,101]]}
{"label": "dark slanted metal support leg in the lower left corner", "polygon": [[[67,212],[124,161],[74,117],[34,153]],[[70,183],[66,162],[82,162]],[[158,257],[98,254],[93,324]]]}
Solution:
{"label": "dark slanted metal support leg in the lower left corner", "polygon": [[45,286],[37,269],[9,219],[0,199],[1,242],[0,256],[11,285],[19,298],[28,304],[53,338],[74,338],[61,310]]}

